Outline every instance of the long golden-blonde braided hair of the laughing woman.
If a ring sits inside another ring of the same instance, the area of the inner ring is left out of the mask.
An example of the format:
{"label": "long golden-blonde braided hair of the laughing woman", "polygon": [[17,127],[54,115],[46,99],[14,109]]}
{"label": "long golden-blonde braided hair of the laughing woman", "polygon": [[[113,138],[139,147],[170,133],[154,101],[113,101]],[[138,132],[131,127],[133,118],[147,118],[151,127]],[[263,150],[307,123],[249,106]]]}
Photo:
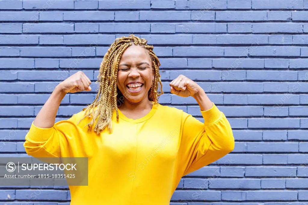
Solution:
{"label": "long golden-blonde braided hair of the laughing woman", "polygon": [[[151,56],[154,79],[148,92],[148,99],[153,101],[154,104],[158,103],[159,96],[164,93],[159,74],[160,62],[156,54],[153,52],[153,46],[147,45],[147,42],[146,39],[138,38],[134,34],[131,34],[129,37],[123,36],[121,38],[116,38],[111,44],[99,66],[99,74],[97,76],[98,80],[96,81],[99,82],[98,93],[94,101],[87,105],[87,107],[83,108],[85,114],[81,120],[87,116],[92,117],[91,121],[86,125],[88,126],[88,130],[92,130],[95,120],[97,119],[94,131],[99,134],[105,127],[108,127],[109,133],[111,133],[111,119],[114,110],[116,111],[116,119],[119,121],[117,102],[119,102],[119,98],[123,95],[121,95],[117,88],[118,68],[124,51],[129,46],[132,46],[132,43],[144,47],[148,50],[148,53]],[[159,86],[160,91],[157,92]],[[79,120],[78,124],[81,120]]]}

